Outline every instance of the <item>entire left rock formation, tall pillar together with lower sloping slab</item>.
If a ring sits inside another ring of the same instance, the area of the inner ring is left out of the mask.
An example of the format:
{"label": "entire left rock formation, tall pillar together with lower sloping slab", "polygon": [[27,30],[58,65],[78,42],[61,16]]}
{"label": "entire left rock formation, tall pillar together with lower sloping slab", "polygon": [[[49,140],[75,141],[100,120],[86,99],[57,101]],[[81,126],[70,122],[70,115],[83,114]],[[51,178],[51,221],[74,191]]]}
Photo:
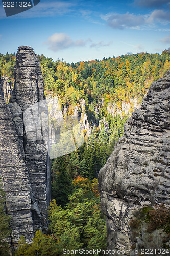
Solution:
{"label": "entire left rock formation, tall pillar together with lower sloping slab", "polygon": [[[14,79],[14,89],[8,106],[1,98],[0,126],[3,135],[0,136],[2,148],[0,166],[7,196],[7,212],[11,211],[11,208],[15,210],[15,214],[11,215],[11,226],[14,223],[13,232],[16,231],[15,223],[20,223],[20,230],[15,239],[12,234],[12,242],[16,243],[21,234],[30,242],[33,230],[46,228],[46,212],[50,202],[50,158],[45,143],[47,138],[44,138],[48,136],[48,112],[46,103],[41,103],[45,97],[40,63],[31,47],[18,48]],[[9,125],[11,130],[8,128]],[[11,139],[10,134],[14,139]],[[10,168],[13,168],[13,173],[9,172]],[[9,179],[11,179],[10,186]],[[16,198],[13,196],[13,191]],[[25,196],[22,195],[24,193]],[[8,200],[8,197],[12,199]],[[20,218],[25,209],[28,211],[29,228]]]}

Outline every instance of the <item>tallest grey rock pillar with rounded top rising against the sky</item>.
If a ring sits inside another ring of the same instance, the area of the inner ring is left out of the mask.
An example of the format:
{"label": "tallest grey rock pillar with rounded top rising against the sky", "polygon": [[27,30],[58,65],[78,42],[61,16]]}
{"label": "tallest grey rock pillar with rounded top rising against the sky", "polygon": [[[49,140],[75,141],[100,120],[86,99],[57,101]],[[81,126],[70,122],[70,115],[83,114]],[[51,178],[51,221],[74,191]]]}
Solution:
{"label": "tallest grey rock pillar with rounded top rising against the sky", "polygon": [[[46,127],[43,127],[42,116],[45,118],[47,104],[43,101],[45,96],[41,66],[31,47],[18,47],[14,78],[15,85],[9,106],[13,116],[15,115],[14,123],[20,138],[21,152],[25,152],[24,159],[33,194],[32,204],[36,202],[41,212],[41,215],[38,215],[32,207],[33,228],[43,229],[47,225],[47,207],[50,202],[50,160],[44,143],[45,131],[43,131],[46,129],[48,134],[48,118],[46,118]],[[18,117],[16,117],[17,110]],[[35,124],[33,120],[36,121]],[[23,125],[26,129],[23,121],[31,126],[29,131],[22,130]]]}

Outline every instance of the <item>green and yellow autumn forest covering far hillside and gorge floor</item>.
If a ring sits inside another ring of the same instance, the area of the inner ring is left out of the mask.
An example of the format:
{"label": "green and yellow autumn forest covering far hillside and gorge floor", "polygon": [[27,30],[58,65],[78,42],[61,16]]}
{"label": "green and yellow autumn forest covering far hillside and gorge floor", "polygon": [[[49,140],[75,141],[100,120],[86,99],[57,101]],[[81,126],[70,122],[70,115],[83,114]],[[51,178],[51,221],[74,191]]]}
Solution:
{"label": "green and yellow autumn forest covering far hillside and gorge floor", "polygon": [[[15,53],[0,54],[0,75],[14,82]],[[48,209],[48,231],[36,232],[32,244],[20,237],[15,255],[62,255],[67,250],[107,248],[107,230],[102,214],[98,173],[114,149],[116,141],[124,133],[124,123],[129,118],[108,113],[108,104],[122,108],[123,102],[137,98],[141,103],[151,83],[164,76],[170,69],[170,49],[162,54],[127,53],[103,60],[66,63],[37,55],[44,80],[45,95],[57,95],[61,110],[67,106],[67,115],[75,106],[81,112],[80,101],[85,100],[86,113],[92,127],[88,137],[84,132],[84,144],[76,151],[51,160],[51,195]],[[104,102],[104,103],[102,103]],[[95,107],[99,111],[96,113]],[[103,121],[108,123],[106,131]],[[95,125],[93,125],[95,124]],[[3,212],[4,194],[0,201],[1,241],[9,236],[9,217]],[[6,232],[4,232],[6,230]],[[8,244],[1,242],[7,255]]]}

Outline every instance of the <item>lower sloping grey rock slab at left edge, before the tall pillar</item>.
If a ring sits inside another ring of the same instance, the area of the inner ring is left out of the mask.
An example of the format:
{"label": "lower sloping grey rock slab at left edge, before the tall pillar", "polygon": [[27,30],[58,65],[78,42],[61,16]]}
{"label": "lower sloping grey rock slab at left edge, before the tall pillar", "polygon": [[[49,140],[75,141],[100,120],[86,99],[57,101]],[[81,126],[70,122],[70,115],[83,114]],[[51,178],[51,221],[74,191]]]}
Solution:
{"label": "lower sloping grey rock slab at left edge, before the tall pillar", "polygon": [[23,234],[26,241],[33,238],[31,213],[31,184],[22,159],[12,114],[0,96],[0,176],[6,192],[6,212],[11,215],[11,238],[15,245]]}

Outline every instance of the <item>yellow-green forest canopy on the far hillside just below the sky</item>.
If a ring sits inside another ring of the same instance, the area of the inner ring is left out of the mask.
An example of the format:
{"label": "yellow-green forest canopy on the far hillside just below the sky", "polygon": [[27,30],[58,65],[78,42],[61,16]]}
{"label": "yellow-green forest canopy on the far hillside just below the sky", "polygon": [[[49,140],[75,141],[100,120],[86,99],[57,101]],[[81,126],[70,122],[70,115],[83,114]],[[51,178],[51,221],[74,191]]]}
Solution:
{"label": "yellow-green forest canopy on the far hillside just below the sky", "polygon": [[[170,68],[170,50],[162,54],[137,53],[77,63],[53,61],[44,55],[40,60],[44,89],[54,91],[61,106],[78,104],[85,98],[86,104],[95,106],[101,98],[108,102],[128,102],[137,97],[141,101],[151,82],[162,77]],[[0,54],[1,76],[13,78],[15,54]],[[70,109],[71,112],[71,109]]]}

